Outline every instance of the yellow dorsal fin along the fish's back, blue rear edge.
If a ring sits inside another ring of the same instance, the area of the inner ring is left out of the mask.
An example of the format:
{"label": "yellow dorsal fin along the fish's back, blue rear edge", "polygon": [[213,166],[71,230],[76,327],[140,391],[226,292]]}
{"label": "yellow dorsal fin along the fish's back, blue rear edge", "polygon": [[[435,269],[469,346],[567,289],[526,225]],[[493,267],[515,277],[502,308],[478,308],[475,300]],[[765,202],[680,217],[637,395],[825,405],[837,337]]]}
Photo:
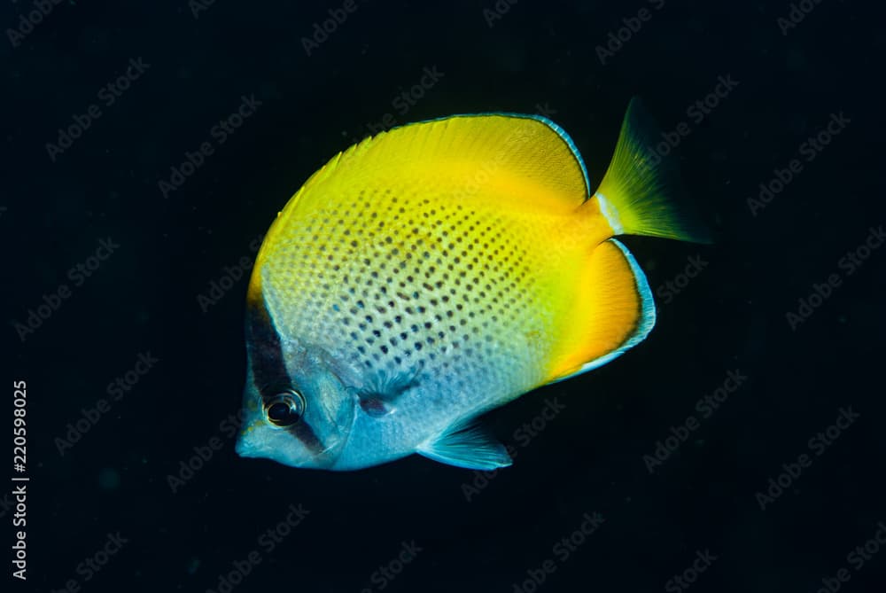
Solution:
{"label": "yellow dorsal fin along the fish's back, blue rear edge", "polygon": [[[422,192],[432,199],[499,200],[567,214],[587,200],[585,166],[570,137],[537,115],[453,115],[390,129],[332,157],[295,193],[268,230],[255,267],[292,225],[330,204]],[[490,204],[495,207],[496,205]],[[253,274],[249,298],[260,295]]]}

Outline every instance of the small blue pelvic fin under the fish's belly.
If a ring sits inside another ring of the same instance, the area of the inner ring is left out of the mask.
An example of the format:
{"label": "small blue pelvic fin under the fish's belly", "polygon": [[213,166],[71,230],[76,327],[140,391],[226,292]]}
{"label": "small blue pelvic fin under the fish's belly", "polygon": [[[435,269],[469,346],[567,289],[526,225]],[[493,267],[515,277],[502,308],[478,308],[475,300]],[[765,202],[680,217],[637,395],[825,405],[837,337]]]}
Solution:
{"label": "small blue pelvic fin under the fish's belly", "polygon": [[458,424],[432,441],[419,446],[416,453],[469,470],[494,470],[511,464],[507,449],[481,425]]}

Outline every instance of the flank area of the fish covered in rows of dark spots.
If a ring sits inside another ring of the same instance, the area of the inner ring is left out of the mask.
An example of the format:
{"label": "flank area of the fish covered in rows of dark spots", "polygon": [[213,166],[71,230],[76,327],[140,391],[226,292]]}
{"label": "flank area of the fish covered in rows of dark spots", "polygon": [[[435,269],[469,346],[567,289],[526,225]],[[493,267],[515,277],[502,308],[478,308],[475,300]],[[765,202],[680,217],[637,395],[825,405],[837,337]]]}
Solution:
{"label": "flank area of the fish covered in rows of dark spots", "polygon": [[[278,328],[369,376],[417,368],[462,389],[537,384],[540,371],[521,370],[534,357],[527,346],[546,347],[530,273],[541,263],[518,244],[521,234],[532,238],[520,221],[390,190],[361,200],[314,213],[274,252],[268,276],[291,286],[298,302],[275,315]],[[539,328],[532,343],[513,343],[513,330],[527,326]],[[476,402],[470,391],[462,395]]]}

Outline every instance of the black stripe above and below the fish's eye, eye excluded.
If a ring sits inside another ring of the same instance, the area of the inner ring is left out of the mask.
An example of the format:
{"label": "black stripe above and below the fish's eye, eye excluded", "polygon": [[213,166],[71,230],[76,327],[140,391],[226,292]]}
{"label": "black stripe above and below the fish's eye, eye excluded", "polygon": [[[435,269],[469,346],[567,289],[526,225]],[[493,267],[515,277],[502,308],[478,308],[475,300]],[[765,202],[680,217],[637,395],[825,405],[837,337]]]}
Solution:
{"label": "black stripe above and below the fish's eye, eye excluded", "polygon": [[[263,299],[246,305],[246,341],[250,346],[254,385],[261,394],[262,403],[267,405],[282,389],[288,388],[291,381],[283,360],[280,336]],[[315,455],[323,451],[323,442],[304,418],[286,430]]]}

